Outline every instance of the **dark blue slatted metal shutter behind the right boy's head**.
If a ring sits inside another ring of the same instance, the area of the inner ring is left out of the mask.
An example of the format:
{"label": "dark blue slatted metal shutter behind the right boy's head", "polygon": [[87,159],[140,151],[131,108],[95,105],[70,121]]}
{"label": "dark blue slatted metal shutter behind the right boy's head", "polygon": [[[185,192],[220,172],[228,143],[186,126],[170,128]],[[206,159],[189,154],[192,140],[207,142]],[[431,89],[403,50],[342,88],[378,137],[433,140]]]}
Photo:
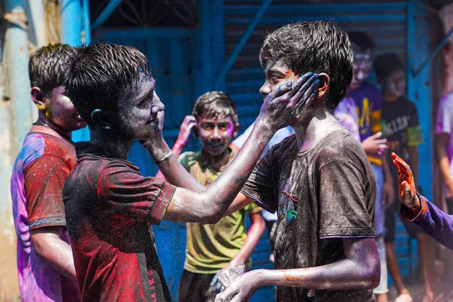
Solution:
{"label": "dark blue slatted metal shutter behind the right boy's head", "polygon": [[[225,54],[255,17],[262,1],[225,1]],[[264,81],[258,54],[264,36],[287,23],[330,20],[347,31],[362,30],[376,42],[375,55],[395,51],[406,59],[406,1],[283,1],[274,0],[228,72],[226,87],[236,102],[242,130],[255,120],[262,102]],[[370,80],[374,80],[371,74]]]}

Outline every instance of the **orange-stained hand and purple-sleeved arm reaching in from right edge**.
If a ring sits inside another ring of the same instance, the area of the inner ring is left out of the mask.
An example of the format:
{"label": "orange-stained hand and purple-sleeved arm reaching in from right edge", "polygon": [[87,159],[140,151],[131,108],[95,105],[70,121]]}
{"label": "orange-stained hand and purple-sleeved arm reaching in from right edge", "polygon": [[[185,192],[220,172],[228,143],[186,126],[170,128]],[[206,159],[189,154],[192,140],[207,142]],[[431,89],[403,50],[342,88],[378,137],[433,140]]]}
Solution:
{"label": "orange-stained hand and purple-sleeved arm reaching in from right edge", "polygon": [[401,216],[425,231],[440,244],[453,250],[453,216],[415,192],[415,181],[409,165],[392,153],[398,169],[398,195],[402,203]]}

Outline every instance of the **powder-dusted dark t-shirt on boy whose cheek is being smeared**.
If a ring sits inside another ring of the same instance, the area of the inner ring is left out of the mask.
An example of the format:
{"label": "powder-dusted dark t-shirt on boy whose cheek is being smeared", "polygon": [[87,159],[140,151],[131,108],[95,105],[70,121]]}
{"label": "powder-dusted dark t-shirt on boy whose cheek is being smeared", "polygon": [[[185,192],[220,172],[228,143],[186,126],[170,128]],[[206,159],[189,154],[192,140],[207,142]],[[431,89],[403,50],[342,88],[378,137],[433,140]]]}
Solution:
{"label": "powder-dusted dark t-shirt on boy whose cheek is being smeared", "polygon": [[[279,220],[277,269],[318,267],[345,259],[342,237],[374,237],[376,179],[362,146],[336,130],[306,151],[292,135],[258,162],[242,193]],[[279,287],[278,301],[374,301],[371,290]]]}

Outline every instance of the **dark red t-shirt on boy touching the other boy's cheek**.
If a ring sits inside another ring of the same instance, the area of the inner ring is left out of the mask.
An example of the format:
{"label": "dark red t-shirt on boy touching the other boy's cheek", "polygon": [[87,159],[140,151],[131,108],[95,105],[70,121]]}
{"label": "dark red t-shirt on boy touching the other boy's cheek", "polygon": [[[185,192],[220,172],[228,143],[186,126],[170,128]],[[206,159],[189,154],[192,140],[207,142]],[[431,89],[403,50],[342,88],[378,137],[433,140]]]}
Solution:
{"label": "dark red t-shirt on boy touching the other boy's cheek", "polygon": [[76,152],[63,201],[83,301],[171,301],[150,224],[176,187],[89,142]]}

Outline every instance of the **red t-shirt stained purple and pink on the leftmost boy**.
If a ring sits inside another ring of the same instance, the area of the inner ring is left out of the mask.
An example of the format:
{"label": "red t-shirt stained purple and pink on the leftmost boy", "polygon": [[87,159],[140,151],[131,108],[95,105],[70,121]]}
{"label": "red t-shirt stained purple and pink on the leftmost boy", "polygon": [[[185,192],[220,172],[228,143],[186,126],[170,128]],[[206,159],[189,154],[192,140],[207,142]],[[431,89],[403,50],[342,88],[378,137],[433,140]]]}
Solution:
{"label": "red t-shirt stained purple and pink on the leftmost boy", "polygon": [[21,301],[81,301],[79,286],[36,255],[30,231],[60,226],[69,244],[62,189],[76,163],[71,142],[53,130],[34,125],[23,142],[11,177],[17,235],[17,269]]}

